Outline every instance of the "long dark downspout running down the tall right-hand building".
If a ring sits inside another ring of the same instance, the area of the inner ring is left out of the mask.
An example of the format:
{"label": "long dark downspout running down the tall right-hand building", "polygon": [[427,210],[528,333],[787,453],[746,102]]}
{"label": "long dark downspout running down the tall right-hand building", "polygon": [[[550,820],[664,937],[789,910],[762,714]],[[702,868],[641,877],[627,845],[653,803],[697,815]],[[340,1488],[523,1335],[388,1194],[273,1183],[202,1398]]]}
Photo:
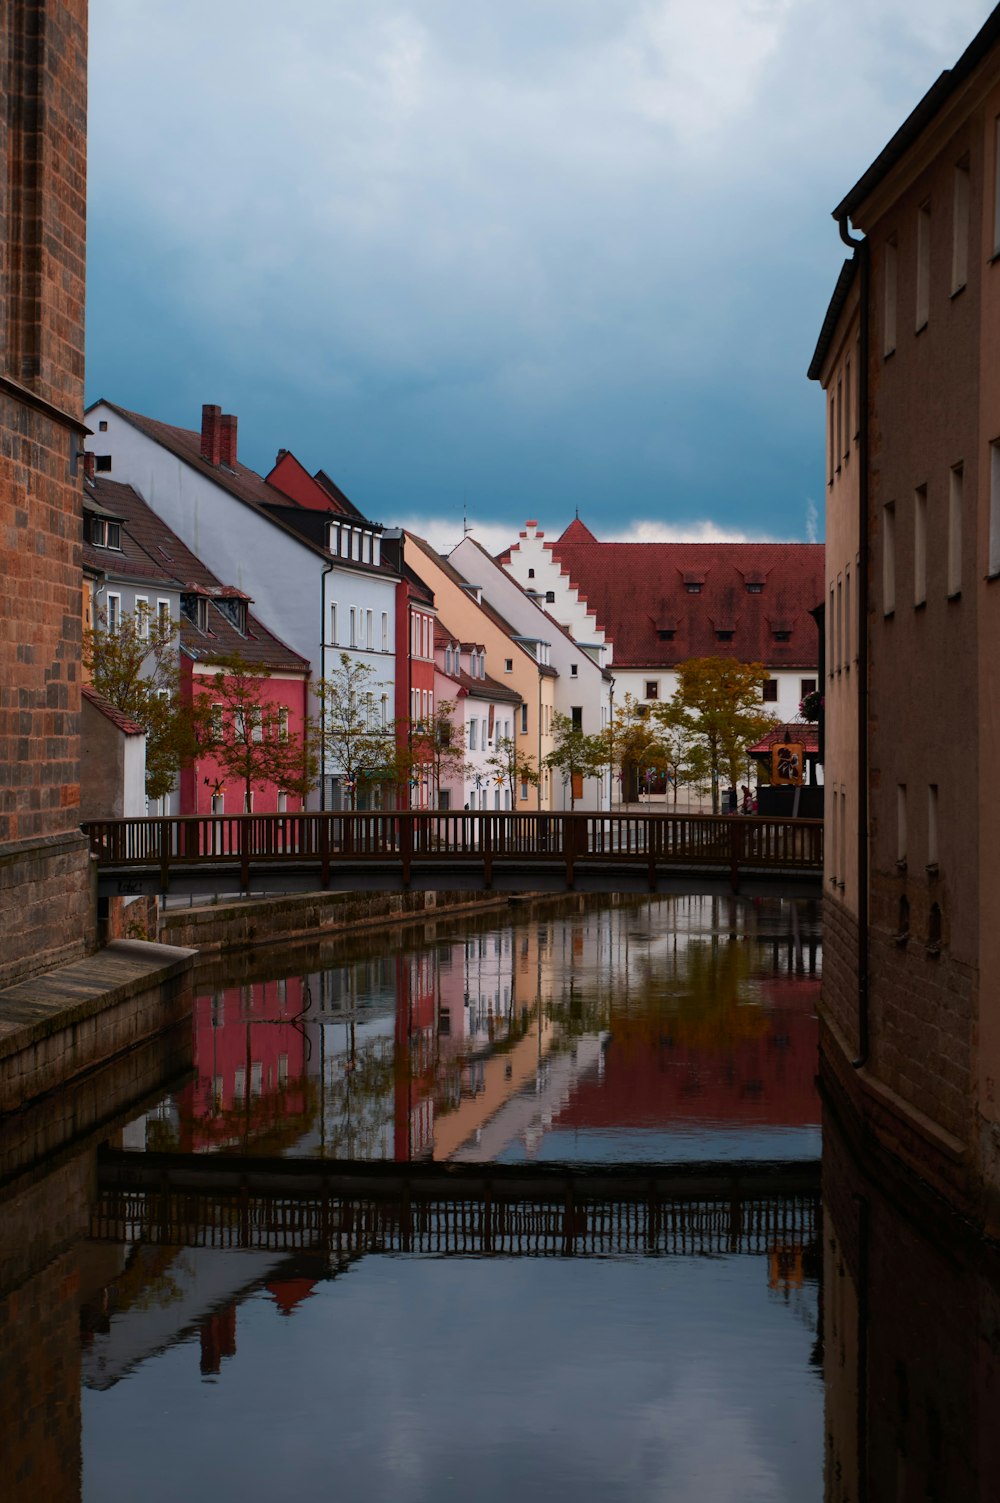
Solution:
{"label": "long dark downspout running down the tall right-hand building", "polygon": [[860,413],[860,445],[857,476],[857,1058],[856,1070],[868,1064],[869,1055],[869,873],[868,873],[868,606],[869,606],[869,302],[871,254],[866,237],[854,239],[848,230],[848,215],[838,221],[841,239],[854,251],[859,265],[860,370],[857,373],[857,406]]}

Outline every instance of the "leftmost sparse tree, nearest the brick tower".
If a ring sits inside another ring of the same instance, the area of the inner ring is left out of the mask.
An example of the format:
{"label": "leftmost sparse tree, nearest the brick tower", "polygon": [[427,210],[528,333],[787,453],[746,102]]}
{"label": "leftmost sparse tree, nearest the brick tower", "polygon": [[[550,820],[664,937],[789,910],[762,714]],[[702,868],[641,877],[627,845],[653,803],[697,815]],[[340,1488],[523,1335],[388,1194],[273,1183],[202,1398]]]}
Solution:
{"label": "leftmost sparse tree, nearest the brick tower", "polygon": [[83,663],[99,694],[146,732],[146,795],[164,798],[198,755],[202,712],[180,697],[176,621],[125,613],[108,631],[107,612],[83,634]]}

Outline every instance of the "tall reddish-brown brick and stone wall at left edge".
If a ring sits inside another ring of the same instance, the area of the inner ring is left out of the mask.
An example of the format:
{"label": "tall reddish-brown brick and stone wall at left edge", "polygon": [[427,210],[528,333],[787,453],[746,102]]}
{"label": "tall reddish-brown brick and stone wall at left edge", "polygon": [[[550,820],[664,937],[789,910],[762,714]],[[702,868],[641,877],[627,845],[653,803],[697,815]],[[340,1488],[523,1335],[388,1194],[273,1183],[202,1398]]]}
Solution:
{"label": "tall reddish-brown brick and stone wall at left edge", "polygon": [[80,822],[86,0],[0,9],[0,984],[93,942]]}

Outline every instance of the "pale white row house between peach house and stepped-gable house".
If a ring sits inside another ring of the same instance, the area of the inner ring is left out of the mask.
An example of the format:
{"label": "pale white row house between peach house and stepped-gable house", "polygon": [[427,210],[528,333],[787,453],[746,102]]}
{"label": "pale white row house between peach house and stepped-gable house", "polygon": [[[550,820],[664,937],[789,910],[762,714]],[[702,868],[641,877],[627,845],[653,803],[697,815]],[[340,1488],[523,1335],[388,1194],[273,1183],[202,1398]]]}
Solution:
{"label": "pale white row house between peach house and stepped-gable house", "polygon": [[[519,642],[535,654],[538,648],[547,652],[549,663],[558,673],[553,684],[555,711],[585,735],[605,730],[611,718],[612,673],[547,612],[541,592],[523,588],[471,537],[463,538],[448,559],[510,621]],[[600,777],[577,777],[574,789],[556,776],[553,807],[565,809],[570,803],[583,810],[609,809],[611,771]]]}

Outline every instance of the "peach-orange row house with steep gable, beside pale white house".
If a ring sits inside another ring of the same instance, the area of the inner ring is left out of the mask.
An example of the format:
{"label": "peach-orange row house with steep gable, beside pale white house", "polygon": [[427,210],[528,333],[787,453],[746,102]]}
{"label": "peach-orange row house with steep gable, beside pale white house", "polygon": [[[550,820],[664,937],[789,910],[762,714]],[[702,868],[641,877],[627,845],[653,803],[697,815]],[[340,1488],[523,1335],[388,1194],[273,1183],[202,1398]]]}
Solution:
{"label": "peach-orange row house with steep gable, beside pale white house", "polygon": [[[552,809],[552,774],[544,759],[553,748],[552,717],[558,673],[549,660],[547,642],[520,637],[448,559],[412,532],[405,534],[406,559],[433,591],[438,610],[457,642],[481,645],[493,675],[517,696],[514,745],[517,758],[538,776],[538,783],[517,782],[514,806],[520,810]],[[495,750],[495,742],[490,750]]]}

